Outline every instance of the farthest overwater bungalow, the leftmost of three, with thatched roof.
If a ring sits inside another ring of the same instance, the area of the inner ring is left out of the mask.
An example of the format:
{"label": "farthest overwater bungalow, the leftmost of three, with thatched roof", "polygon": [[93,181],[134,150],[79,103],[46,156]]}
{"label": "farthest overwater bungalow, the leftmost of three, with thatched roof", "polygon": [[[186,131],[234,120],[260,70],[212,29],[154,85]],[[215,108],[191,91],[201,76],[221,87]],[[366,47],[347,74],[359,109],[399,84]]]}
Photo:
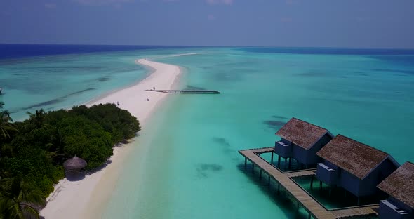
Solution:
{"label": "farthest overwater bungalow, the leftmost of three, with thatched roof", "polygon": [[316,152],[333,139],[333,135],[327,129],[296,118],[289,120],[276,135],[281,137],[280,141],[275,142],[274,147],[279,160],[280,157],[293,158],[306,168],[321,161]]}

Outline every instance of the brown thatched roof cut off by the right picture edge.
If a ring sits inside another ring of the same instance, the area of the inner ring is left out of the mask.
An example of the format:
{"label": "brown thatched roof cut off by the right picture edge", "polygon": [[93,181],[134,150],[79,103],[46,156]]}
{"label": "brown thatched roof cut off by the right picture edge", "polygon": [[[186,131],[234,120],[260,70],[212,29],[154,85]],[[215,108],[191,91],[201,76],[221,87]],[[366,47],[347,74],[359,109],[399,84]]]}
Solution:
{"label": "brown thatched roof cut off by the right picture edge", "polygon": [[378,186],[380,190],[414,208],[414,164],[406,162]]}

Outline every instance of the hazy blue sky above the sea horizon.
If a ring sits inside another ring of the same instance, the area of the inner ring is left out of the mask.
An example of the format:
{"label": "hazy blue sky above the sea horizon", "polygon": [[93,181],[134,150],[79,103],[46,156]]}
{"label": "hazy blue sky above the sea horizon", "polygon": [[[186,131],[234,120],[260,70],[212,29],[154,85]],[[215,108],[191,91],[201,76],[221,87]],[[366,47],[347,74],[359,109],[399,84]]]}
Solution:
{"label": "hazy blue sky above the sea horizon", "polygon": [[413,0],[0,0],[0,44],[414,48]]}

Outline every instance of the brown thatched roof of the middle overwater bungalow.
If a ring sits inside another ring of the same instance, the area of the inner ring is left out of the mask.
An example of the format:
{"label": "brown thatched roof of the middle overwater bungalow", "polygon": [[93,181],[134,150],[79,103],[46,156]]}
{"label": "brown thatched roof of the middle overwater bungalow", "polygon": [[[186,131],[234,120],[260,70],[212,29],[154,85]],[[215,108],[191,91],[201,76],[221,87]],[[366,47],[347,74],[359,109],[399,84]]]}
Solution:
{"label": "brown thatched roof of the middle overwater bungalow", "polygon": [[382,163],[389,154],[343,135],[336,135],[316,153],[361,180]]}

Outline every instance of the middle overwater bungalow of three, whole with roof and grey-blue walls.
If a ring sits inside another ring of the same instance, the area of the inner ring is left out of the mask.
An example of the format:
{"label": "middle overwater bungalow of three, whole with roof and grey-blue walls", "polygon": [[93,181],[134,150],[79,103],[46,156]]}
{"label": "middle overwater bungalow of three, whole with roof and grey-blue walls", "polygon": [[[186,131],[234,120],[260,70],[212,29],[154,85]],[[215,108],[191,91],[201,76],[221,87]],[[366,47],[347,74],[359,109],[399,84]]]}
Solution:
{"label": "middle overwater bungalow of three, whole with roof and grey-blue walls", "polygon": [[358,197],[378,194],[377,185],[394,172],[399,164],[387,153],[343,135],[316,153],[323,159],[316,168],[316,178],[338,186]]}

